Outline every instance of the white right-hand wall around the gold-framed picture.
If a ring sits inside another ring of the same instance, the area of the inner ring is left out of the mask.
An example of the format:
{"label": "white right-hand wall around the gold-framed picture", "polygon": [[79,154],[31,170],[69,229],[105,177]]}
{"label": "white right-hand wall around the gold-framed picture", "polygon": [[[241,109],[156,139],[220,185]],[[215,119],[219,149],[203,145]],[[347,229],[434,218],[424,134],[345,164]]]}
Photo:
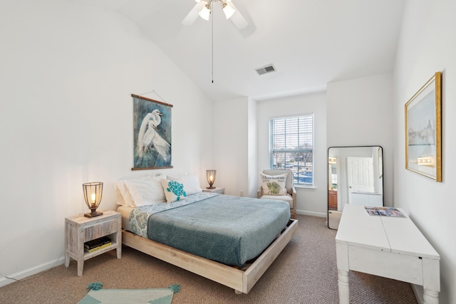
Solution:
{"label": "white right-hand wall around the gold-framed picture", "polygon": [[[408,0],[394,73],[394,205],[404,208],[440,254],[440,303],[456,303],[453,199],[456,175],[456,1]],[[404,105],[442,71],[442,182],[405,169]]]}

